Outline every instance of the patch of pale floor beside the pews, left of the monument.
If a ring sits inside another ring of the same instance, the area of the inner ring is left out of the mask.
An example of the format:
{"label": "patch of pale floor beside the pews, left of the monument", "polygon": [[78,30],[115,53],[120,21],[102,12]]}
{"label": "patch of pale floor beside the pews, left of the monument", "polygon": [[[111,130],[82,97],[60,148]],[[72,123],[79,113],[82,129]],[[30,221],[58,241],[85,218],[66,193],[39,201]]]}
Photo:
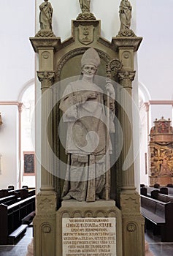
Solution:
{"label": "patch of pale floor beside the pews, left of the monument", "polygon": [[28,227],[26,234],[15,245],[0,245],[0,256],[26,256],[32,236],[33,228]]}

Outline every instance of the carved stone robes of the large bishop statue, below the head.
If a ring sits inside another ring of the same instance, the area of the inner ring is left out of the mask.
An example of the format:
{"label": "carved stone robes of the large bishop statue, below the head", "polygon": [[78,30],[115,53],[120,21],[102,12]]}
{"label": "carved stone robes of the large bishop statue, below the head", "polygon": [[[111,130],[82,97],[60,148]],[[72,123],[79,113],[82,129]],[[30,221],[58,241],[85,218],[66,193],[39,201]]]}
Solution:
{"label": "carved stone robes of the large bishop statue, below the head", "polygon": [[[92,99],[95,92],[97,97]],[[103,91],[95,83],[72,82],[66,87],[60,109],[68,124],[68,167],[62,196],[69,194],[80,201],[99,199],[103,197],[105,172],[109,170],[106,157],[112,154]],[[112,118],[109,123],[110,132],[114,132]]]}

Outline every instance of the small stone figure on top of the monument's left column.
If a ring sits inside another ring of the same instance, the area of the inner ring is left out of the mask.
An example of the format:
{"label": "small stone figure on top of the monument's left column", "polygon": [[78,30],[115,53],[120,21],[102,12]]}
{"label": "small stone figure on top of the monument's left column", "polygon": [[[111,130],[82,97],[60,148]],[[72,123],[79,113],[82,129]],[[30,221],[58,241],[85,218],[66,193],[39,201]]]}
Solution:
{"label": "small stone figure on top of the monument's left column", "polygon": [[48,2],[48,0],[44,0],[44,2],[39,5],[39,10],[40,30],[35,37],[55,37],[52,31],[52,5],[50,2]]}

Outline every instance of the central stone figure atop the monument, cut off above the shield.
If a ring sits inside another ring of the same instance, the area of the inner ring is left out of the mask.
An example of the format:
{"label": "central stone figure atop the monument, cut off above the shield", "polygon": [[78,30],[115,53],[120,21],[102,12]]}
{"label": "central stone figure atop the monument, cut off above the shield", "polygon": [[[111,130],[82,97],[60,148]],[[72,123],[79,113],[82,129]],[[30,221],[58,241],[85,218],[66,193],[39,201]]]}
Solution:
{"label": "central stone figure atop the monument, cut off above the shield", "polygon": [[77,20],[96,20],[93,13],[90,12],[91,0],[79,0],[82,13],[77,16]]}

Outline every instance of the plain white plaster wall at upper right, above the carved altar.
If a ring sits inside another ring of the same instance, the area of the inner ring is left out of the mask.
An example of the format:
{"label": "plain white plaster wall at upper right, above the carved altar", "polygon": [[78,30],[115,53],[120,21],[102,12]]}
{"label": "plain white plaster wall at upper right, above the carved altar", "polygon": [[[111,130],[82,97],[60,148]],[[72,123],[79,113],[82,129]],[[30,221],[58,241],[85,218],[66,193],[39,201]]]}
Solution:
{"label": "plain white plaster wall at upper right, above the carved altar", "polygon": [[173,97],[172,10],[172,0],[137,1],[137,34],[143,37],[138,52],[139,81],[151,99]]}

